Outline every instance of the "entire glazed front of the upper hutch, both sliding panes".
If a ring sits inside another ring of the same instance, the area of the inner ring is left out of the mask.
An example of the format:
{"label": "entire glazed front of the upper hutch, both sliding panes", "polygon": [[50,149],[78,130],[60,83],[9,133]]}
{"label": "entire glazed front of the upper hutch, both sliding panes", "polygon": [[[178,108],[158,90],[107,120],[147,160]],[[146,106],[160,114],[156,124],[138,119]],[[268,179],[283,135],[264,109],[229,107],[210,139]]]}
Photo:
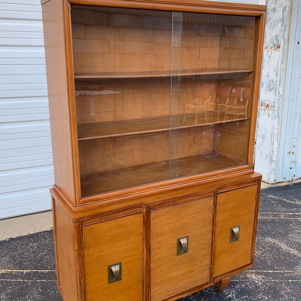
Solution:
{"label": "entire glazed front of the upper hutch, both sliding panes", "polygon": [[72,6],[82,196],[247,164],[256,17]]}

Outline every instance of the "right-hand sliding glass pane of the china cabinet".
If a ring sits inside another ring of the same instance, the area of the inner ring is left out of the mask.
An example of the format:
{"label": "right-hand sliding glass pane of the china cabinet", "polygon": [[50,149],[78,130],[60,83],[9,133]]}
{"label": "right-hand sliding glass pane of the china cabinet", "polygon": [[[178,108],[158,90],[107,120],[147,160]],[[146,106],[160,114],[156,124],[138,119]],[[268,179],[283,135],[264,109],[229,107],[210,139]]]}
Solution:
{"label": "right-hand sliding glass pane of the china cabinet", "polygon": [[247,164],[255,20],[183,14],[179,177]]}

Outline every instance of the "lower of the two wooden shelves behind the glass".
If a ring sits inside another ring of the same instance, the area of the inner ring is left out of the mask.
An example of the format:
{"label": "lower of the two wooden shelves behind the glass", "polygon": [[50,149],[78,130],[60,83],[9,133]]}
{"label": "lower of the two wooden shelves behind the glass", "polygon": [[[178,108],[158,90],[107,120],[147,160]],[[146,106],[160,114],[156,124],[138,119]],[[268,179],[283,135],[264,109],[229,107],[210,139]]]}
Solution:
{"label": "lower of the two wooden shelves behind the glass", "polygon": [[[184,116],[181,115],[173,117],[172,119],[169,117],[158,117],[119,122],[81,124],[78,125],[78,140],[161,132],[188,127],[246,120],[246,118],[235,118],[232,116],[229,116],[228,120],[223,120],[223,118],[224,112],[221,112],[218,118],[218,111],[209,111],[207,112],[207,121],[205,118],[205,113],[199,113],[197,119],[194,114],[190,114],[188,117],[186,117],[185,121]],[[196,124],[195,121],[197,121]]]}

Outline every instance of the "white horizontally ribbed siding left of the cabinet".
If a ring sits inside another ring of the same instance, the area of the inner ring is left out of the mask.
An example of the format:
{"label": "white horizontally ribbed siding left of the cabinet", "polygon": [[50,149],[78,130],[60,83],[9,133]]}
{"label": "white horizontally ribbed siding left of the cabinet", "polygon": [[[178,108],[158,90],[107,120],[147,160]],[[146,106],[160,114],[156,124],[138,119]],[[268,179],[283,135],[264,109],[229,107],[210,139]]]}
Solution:
{"label": "white horizontally ribbed siding left of the cabinet", "polygon": [[40,0],[5,0],[0,2],[0,219],[51,208],[52,164]]}

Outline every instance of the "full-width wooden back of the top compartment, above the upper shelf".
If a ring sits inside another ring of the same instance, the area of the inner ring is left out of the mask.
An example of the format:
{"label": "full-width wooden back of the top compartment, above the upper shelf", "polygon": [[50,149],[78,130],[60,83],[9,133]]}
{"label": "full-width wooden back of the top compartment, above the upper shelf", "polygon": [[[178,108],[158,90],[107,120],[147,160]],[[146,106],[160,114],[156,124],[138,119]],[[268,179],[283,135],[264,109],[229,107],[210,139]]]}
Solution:
{"label": "full-width wooden back of the top compartment, above the upper shelf", "polygon": [[182,69],[254,67],[255,17],[173,14],[72,6],[75,73],[170,70],[179,22]]}

